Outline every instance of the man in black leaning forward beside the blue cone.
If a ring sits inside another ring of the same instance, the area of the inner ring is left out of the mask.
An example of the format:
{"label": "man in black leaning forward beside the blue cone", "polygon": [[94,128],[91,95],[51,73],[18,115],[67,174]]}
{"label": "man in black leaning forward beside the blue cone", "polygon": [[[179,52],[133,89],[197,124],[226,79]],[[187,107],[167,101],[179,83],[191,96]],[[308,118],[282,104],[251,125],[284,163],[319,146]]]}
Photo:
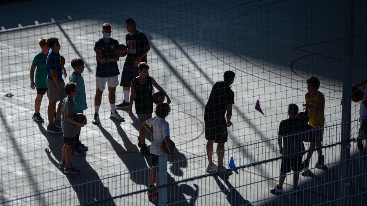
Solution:
{"label": "man in black leaning forward beside the blue cone", "polygon": [[[205,106],[205,139],[207,141],[208,173],[226,170],[223,166],[224,144],[227,142],[227,127],[232,125],[232,104],[235,103],[235,93],[230,85],[235,80],[233,71],[224,73],[224,81],[217,82],[211,89],[208,103]],[[227,113],[227,120],[225,114]],[[213,163],[213,144],[217,143],[218,166]]]}

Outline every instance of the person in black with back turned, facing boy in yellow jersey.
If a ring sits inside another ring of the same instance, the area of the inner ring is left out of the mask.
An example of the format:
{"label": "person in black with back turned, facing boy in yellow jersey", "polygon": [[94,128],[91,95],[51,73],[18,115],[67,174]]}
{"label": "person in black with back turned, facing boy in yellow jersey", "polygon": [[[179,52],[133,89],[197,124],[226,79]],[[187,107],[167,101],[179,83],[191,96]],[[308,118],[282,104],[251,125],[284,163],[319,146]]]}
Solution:
{"label": "person in black with back turned, facing boy in yellow jersey", "polygon": [[[280,122],[278,132],[278,146],[280,154],[283,156],[292,155],[305,151],[305,146],[302,141],[302,132],[306,131],[306,123],[297,118],[298,106],[295,104],[288,105],[288,119]],[[283,139],[283,146],[282,146]],[[270,192],[275,195],[283,194],[283,183],[288,172],[293,170],[293,191],[301,190],[297,187],[299,172],[302,170],[302,154],[281,159],[279,184],[275,188],[271,188]]]}

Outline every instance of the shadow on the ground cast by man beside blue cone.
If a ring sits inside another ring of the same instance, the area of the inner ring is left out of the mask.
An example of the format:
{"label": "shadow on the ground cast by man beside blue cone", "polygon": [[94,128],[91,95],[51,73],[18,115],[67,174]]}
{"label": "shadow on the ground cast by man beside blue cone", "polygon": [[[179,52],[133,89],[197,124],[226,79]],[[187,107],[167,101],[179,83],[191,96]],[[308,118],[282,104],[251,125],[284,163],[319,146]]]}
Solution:
{"label": "shadow on the ground cast by man beside blue cone", "polygon": [[[221,192],[226,195],[226,199],[228,200],[230,205],[251,205],[251,203],[248,200],[244,199],[243,196],[236,190],[236,188],[234,188],[232,184],[229,183],[227,176],[213,175],[213,177],[217,182],[219,188],[221,189]],[[221,180],[219,180],[218,177],[224,181],[227,187],[222,183]]]}

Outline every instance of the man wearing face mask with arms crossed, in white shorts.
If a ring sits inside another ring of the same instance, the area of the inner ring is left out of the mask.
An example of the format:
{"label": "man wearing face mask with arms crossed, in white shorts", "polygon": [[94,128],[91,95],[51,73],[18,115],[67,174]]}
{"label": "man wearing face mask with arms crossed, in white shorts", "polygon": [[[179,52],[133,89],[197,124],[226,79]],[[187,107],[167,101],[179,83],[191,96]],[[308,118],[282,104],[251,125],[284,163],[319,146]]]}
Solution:
{"label": "man wearing face mask with arms crossed, in white shorts", "polygon": [[109,23],[102,25],[103,37],[94,45],[97,60],[95,73],[96,92],[94,97],[94,117],[93,124],[99,123],[99,107],[102,102],[103,90],[108,87],[108,100],[111,106],[110,119],[123,120],[124,118],[116,111],[116,87],[119,85],[119,67],[117,61],[120,59],[120,44],[111,38],[112,27]]}

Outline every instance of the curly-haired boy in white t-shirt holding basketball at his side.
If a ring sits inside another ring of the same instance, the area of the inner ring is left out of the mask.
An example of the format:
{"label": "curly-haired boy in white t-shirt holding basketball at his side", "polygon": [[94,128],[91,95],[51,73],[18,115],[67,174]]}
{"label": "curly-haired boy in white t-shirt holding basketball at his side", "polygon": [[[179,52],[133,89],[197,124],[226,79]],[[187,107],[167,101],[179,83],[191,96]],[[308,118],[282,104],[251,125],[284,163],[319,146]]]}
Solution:
{"label": "curly-haired boy in white t-shirt holding basketball at his side", "polygon": [[[150,134],[152,134],[152,144],[150,144],[150,154],[152,156],[152,170],[150,170],[149,175],[149,188],[153,187],[153,184],[156,183],[158,185],[158,157],[161,154],[164,154],[160,145],[163,141],[166,141],[166,145],[168,151],[170,152],[169,162],[173,162],[173,152],[174,148],[170,145],[170,125],[165,120],[168,114],[170,114],[171,108],[167,103],[161,103],[156,106],[156,117],[152,119],[148,119],[143,122],[143,126],[146,128]],[[154,133],[150,126],[153,126]],[[152,191],[148,191],[148,195],[152,195]],[[158,190],[156,191],[153,202],[157,201]]]}

